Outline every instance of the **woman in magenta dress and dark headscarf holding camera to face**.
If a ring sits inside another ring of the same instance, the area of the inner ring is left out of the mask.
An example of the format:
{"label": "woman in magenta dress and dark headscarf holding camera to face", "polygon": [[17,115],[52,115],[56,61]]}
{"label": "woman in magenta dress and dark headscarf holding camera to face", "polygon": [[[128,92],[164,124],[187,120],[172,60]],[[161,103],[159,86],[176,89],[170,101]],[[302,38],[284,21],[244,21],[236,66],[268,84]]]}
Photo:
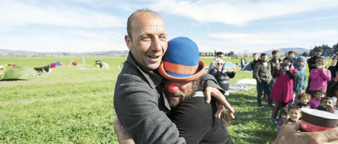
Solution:
{"label": "woman in magenta dress and dark headscarf holding camera to face", "polygon": [[293,58],[287,56],[283,63],[277,65],[277,69],[273,72],[272,77],[276,78],[273,84],[270,98],[276,101],[273,107],[271,122],[277,124],[278,111],[287,106],[288,103],[293,102],[293,80],[297,77],[297,69],[292,65]]}

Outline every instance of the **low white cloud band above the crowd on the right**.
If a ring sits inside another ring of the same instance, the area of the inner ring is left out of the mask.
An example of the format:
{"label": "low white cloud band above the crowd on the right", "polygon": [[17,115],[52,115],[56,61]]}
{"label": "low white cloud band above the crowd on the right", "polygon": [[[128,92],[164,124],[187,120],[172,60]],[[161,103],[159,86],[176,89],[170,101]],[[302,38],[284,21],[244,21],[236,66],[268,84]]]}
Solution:
{"label": "low white cloud band above the crowd on the right", "polygon": [[321,44],[337,44],[338,30],[320,31],[279,31],[271,33],[212,33],[212,40],[200,40],[200,51],[261,52],[276,48],[308,48]]}

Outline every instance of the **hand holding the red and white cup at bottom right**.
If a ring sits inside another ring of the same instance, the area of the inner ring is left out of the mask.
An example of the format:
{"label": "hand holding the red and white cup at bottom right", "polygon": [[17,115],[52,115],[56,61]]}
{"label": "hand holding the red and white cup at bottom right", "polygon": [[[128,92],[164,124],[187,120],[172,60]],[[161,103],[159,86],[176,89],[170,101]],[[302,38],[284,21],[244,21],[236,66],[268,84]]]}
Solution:
{"label": "hand holding the red and white cup at bottom right", "polygon": [[276,140],[272,144],[337,144],[338,127],[320,132],[297,132],[300,130],[300,121],[292,124],[283,124],[279,129]]}

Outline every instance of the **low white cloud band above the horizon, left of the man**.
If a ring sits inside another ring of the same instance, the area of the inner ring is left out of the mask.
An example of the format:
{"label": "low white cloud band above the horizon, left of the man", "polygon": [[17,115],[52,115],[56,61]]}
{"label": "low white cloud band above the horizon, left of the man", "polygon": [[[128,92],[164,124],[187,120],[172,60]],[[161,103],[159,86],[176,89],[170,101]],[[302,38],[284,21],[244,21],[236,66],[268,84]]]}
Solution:
{"label": "low white cloud band above the horizon, left of the man", "polygon": [[3,49],[38,52],[128,50],[124,43],[123,34],[100,34],[84,31],[69,31],[66,33],[66,35],[0,35],[0,43]]}

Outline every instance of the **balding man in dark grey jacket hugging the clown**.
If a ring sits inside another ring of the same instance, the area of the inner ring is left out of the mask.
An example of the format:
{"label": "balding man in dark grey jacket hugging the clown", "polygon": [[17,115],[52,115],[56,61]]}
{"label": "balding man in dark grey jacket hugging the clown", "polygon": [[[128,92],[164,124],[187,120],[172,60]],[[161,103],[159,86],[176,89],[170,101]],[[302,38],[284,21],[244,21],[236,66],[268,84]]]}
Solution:
{"label": "balding man in dark grey jacket hugging the clown", "polygon": [[[129,134],[136,143],[185,143],[167,117],[171,107],[161,85],[163,77],[156,71],[168,46],[163,19],[152,10],[136,10],[128,18],[127,33],[124,38],[130,51],[114,92],[116,133]],[[233,117],[234,111],[219,92],[215,78],[202,77],[207,101],[210,94],[217,96]]]}

